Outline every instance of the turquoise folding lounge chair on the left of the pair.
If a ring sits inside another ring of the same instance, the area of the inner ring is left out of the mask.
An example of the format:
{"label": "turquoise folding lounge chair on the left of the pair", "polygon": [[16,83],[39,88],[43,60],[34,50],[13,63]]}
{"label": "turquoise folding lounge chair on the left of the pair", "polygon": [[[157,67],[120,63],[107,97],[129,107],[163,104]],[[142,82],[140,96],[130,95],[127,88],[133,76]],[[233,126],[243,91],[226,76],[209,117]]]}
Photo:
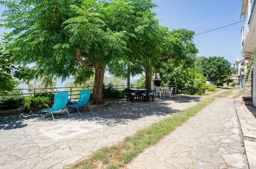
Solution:
{"label": "turquoise folding lounge chair on the left of the pair", "polygon": [[[54,97],[54,103],[52,105],[52,108],[50,108],[49,105],[46,104],[48,109],[42,109],[41,111],[47,111],[46,114],[51,113],[53,120],[55,120],[52,113],[56,112],[56,111],[59,111],[59,110],[63,111],[65,108],[68,112],[68,109],[66,107],[67,103],[68,103],[68,92],[56,93],[55,97]],[[46,117],[46,114],[45,114],[45,117]],[[69,118],[69,117],[70,116],[69,116],[69,112],[68,112],[68,117],[67,118]]]}

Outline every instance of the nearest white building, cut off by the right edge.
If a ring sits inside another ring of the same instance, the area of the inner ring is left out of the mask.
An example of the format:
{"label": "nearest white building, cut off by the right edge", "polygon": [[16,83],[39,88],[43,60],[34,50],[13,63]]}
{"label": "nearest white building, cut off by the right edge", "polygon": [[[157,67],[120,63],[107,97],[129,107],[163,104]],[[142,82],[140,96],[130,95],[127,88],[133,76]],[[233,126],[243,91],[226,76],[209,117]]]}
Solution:
{"label": "nearest white building, cut off by the right edge", "polygon": [[[243,0],[241,16],[244,18],[242,27],[242,52],[243,54],[253,54],[256,56],[256,17],[255,8],[256,0]],[[256,61],[253,63],[253,85],[252,85],[252,102],[256,106]]]}

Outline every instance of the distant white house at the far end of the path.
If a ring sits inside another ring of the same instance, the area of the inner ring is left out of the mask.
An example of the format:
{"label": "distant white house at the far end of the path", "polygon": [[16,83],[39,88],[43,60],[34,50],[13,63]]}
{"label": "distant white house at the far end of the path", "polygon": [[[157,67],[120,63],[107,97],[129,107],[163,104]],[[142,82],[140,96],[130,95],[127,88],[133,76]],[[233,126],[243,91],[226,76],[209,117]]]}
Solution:
{"label": "distant white house at the far end of the path", "polygon": [[245,89],[245,76],[246,76],[246,70],[247,70],[247,60],[243,59],[237,59],[235,60],[234,65],[234,77],[232,79],[235,82],[235,87],[240,89]]}

